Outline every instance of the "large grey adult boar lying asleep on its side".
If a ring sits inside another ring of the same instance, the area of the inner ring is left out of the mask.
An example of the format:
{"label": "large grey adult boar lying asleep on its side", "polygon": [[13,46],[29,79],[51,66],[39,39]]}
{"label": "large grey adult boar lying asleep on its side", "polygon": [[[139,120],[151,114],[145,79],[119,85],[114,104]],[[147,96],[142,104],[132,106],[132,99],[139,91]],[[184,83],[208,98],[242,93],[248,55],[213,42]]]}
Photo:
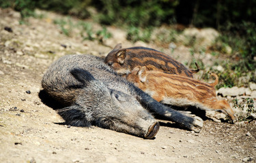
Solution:
{"label": "large grey adult boar lying asleep on its side", "polygon": [[99,126],[152,139],[159,129],[154,115],[199,132],[203,121],[166,107],[119,77],[101,58],[68,55],[53,62],[42,78],[48,96],[63,106],[57,112],[73,126]]}

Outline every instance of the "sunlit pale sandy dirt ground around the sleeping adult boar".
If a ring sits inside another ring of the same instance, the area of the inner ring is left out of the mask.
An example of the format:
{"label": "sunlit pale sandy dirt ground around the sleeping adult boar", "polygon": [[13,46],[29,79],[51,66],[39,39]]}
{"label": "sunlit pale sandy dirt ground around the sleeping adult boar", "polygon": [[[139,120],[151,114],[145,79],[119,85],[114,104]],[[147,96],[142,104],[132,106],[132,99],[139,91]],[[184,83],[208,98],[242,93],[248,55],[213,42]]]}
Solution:
{"label": "sunlit pale sandy dirt ground around the sleeping adult boar", "polygon": [[38,97],[47,67],[65,54],[104,56],[111,48],[66,37],[51,16],[20,25],[18,13],[0,9],[0,162],[256,162],[255,121],[205,120],[200,133],[162,121],[154,140],[61,125],[61,117]]}

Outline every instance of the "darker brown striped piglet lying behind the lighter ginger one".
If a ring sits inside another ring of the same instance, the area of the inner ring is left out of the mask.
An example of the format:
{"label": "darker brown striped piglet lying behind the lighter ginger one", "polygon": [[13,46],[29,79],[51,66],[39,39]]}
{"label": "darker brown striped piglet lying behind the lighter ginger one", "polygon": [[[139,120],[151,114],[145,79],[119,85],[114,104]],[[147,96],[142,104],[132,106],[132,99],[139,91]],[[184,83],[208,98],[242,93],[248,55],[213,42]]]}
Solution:
{"label": "darker brown striped piglet lying behind the lighter ginger one", "polygon": [[122,48],[121,43],[109,52],[104,62],[119,75],[126,75],[137,66],[145,66],[147,70],[157,70],[186,77],[193,77],[193,73],[199,71],[198,66],[197,70],[187,69],[171,56],[157,50],[143,47]]}

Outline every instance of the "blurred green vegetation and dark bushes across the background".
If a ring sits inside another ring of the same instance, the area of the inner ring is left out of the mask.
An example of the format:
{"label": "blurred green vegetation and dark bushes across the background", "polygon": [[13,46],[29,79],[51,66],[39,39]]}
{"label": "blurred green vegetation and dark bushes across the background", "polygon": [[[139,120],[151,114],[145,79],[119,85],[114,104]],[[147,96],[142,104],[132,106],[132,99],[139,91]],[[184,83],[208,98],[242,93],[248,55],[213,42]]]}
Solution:
{"label": "blurred green vegetation and dark bushes across the background", "polygon": [[[209,6],[209,4],[211,4]],[[78,18],[91,18],[103,25],[96,31],[88,22],[74,23],[67,18],[55,20],[60,31],[72,36],[74,29],[80,30],[79,35],[84,40],[98,40],[111,37],[111,33],[104,25],[120,26],[126,29],[126,38],[132,42],[154,42],[157,45],[168,47],[170,43],[184,45],[190,48],[193,60],[187,63],[194,67],[197,62],[201,69],[205,67],[202,60],[194,57],[194,53],[205,55],[210,53],[218,61],[215,66],[221,65],[225,71],[216,71],[220,77],[219,87],[244,86],[248,82],[256,82],[256,0],[9,0],[0,1],[0,7],[12,7],[20,12],[20,23],[26,22],[29,16],[35,16],[35,8],[51,10],[60,14],[68,14]],[[182,24],[184,27],[198,28],[212,27],[221,35],[208,49],[197,46],[200,41],[195,37],[186,37],[180,41],[184,29],[167,28],[154,33],[160,26]],[[155,34],[155,35],[154,35]],[[154,37],[153,37],[154,36]],[[172,51],[175,48],[172,48]],[[211,70],[211,69],[210,69]],[[203,75],[207,79],[208,75]],[[241,77],[245,77],[241,79]]]}

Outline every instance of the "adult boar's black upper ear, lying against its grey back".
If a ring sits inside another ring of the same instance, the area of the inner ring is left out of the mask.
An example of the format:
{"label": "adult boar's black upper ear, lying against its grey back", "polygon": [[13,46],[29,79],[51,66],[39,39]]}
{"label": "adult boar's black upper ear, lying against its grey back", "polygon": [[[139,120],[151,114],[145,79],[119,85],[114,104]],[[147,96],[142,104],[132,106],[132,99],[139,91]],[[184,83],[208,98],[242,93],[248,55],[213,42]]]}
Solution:
{"label": "adult boar's black upper ear, lying against its grey back", "polygon": [[73,75],[74,78],[76,78],[76,80],[81,82],[83,86],[89,84],[90,81],[95,80],[94,76],[91,75],[91,73],[83,69],[72,69],[70,73]]}

